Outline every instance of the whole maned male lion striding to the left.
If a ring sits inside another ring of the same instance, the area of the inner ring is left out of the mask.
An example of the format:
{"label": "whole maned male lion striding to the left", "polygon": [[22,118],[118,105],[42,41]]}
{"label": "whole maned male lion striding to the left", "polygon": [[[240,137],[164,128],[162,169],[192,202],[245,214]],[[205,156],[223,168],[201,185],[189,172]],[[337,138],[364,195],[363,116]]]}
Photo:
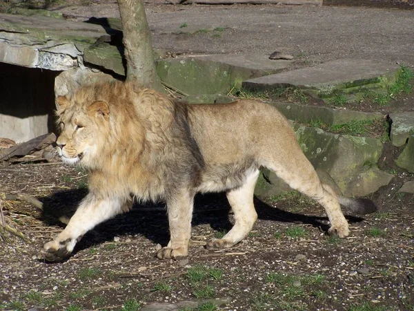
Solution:
{"label": "whole maned male lion striding to the left", "polygon": [[156,256],[186,257],[195,194],[219,191],[226,191],[235,223],[206,247],[232,247],[257,220],[253,192],[261,167],[319,202],[328,234],[349,234],[339,203],[355,214],[376,210],[371,200],[337,196],[323,184],[290,122],[264,102],[186,104],[134,82],[106,82],[57,97],[56,113],[59,156],[90,171],[89,192],[66,228],[44,245],[46,261],[70,256],[88,230],[130,210],[133,198],[165,200],[170,242]]}

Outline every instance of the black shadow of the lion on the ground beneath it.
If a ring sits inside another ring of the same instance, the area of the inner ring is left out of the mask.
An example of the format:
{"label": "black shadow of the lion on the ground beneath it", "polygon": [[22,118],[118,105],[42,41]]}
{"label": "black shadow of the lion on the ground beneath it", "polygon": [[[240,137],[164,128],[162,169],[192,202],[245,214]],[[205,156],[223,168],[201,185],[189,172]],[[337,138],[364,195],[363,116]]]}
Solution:
{"label": "black shadow of the lion on the ground beneath it", "polygon": [[[86,196],[86,189],[59,191],[52,196],[40,198],[43,202],[41,220],[49,225],[64,225],[58,219],[70,219],[75,213],[79,202]],[[272,207],[255,198],[255,207],[259,219],[273,220],[282,223],[304,223],[320,227],[326,231],[326,217],[306,216]],[[228,212],[230,205],[225,194],[197,195],[193,214],[193,226],[208,224],[213,229],[228,231],[232,227]],[[363,218],[346,216],[351,223],[362,221]],[[86,234],[75,247],[75,252],[92,245],[113,241],[115,236],[142,235],[150,241],[166,245],[169,240],[168,218],[164,202],[139,205],[136,203],[126,214],[101,223]]]}

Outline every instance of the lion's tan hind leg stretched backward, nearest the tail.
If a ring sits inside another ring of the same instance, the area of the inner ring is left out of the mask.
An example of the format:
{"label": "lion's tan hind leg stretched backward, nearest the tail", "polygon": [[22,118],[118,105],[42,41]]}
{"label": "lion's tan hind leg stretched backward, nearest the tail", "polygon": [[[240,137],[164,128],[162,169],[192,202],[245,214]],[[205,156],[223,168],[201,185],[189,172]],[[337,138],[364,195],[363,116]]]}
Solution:
{"label": "lion's tan hind leg stretched backward, nearest the tail", "polygon": [[290,161],[278,161],[278,163],[279,165],[276,166],[270,162],[265,166],[275,171],[277,176],[282,178],[291,188],[313,198],[324,207],[331,223],[328,234],[339,236],[339,238],[348,236],[348,222],[342,214],[337,195],[331,187],[320,182],[311,162],[304,156],[299,146],[295,156],[290,157]]}

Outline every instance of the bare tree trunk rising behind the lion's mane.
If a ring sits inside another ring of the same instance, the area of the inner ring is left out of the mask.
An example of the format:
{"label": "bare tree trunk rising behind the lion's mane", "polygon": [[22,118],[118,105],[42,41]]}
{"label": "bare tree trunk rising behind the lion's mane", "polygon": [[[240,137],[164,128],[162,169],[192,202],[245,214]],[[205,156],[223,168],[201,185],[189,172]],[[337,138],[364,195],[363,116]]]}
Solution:
{"label": "bare tree trunk rising behind the lion's mane", "polygon": [[150,27],[142,0],[118,0],[124,32],[126,79],[164,91],[155,70]]}

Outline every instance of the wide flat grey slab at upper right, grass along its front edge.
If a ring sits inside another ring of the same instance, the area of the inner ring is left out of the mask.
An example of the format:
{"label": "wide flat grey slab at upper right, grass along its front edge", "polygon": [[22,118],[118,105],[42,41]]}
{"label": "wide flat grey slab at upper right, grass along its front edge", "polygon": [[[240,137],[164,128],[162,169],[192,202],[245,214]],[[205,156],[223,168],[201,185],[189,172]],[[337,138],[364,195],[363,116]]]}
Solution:
{"label": "wide flat grey slab at upper right, grass along its front edge", "polygon": [[369,59],[337,59],[309,68],[248,79],[242,86],[253,91],[294,87],[314,97],[330,97],[335,91],[357,93],[361,88],[385,88],[395,81],[398,70],[397,64]]}

